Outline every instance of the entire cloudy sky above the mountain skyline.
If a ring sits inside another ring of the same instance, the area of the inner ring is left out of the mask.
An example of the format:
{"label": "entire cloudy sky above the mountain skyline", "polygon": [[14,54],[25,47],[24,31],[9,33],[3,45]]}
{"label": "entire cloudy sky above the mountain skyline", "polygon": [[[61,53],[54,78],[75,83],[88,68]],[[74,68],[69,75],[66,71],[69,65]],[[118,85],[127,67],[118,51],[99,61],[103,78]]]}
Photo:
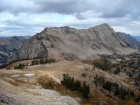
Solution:
{"label": "entire cloudy sky above the mountain skyline", "polygon": [[45,27],[108,23],[140,36],[140,0],[0,0],[0,36],[27,36]]}

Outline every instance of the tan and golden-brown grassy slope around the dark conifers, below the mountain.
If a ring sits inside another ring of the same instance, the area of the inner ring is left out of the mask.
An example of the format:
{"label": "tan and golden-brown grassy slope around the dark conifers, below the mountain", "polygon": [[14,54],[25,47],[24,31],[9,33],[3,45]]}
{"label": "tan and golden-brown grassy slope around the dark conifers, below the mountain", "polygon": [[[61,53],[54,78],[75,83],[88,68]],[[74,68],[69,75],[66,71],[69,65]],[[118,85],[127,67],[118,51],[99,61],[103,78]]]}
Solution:
{"label": "tan and golden-brown grassy slope around the dark conifers, below the mountain", "polygon": [[[14,63],[12,64],[12,66],[14,67],[14,65],[18,65],[19,63],[26,63],[28,60],[26,61],[21,61],[18,63]],[[23,86],[25,84],[30,84],[29,81],[25,82],[24,79],[27,80],[31,80],[31,83],[34,82],[34,80],[36,81],[34,83],[37,84],[37,86],[42,86],[43,88],[46,89],[52,89],[55,91],[60,92],[62,95],[69,95],[73,98],[75,97],[79,97],[82,99],[81,104],[82,105],[97,105],[99,104],[100,101],[105,101],[108,103],[108,105],[120,105],[120,103],[122,103],[122,101],[120,99],[115,100],[113,98],[110,98],[108,96],[103,95],[103,93],[96,91],[98,90],[94,85],[92,85],[92,95],[93,95],[93,99],[91,99],[90,101],[88,99],[83,99],[82,98],[82,94],[76,91],[70,91],[68,89],[66,89],[65,87],[63,87],[61,84],[59,84],[59,81],[57,80],[61,80],[62,79],[62,75],[64,73],[68,73],[70,76],[74,76],[75,79],[80,80],[81,82],[86,81],[87,83],[89,82],[89,80],[93,81],[94,80],[94,76],[97,75],[107,75],[106,72],[104,71],[100,71],[100,70],[95,70],[92,71],[92,66],[87,66],[88,65],[92,65],[92,61],[83,61],[84,63],[81,62],[56,62],[56,63],[52,63],[51,65],[46,64],[46,65],[40,65],[40,66],[29,66],[28,69],[26,70],[5,70],[5,71],[1,71],[1,74],[3,77],[10,77],[11,75],[14,74],[25,74],[25,73],[35,73],[34,77],[28,78],[28,77],[24,77],[21,76],[19,77],[19,79],[15,79],[14,81],[9,82],[12,85],[15,86]],[[12,67],[11,66],[11,67]],[[82,73],[86,73],[88,76],[87,78],[82,77]],[[90,79],[88,78],[90,76]],[[116,78],[117,79],[117,78]],[[120,77],[119,77],[120,79]],[[120,79],[121,81],[123,80],[122,78]],[[33,82],[32,82],[33,81]],[[131,82],[131,79],[126,79],[124,82],[128,83]],[[39,83],[39,85],[38,85]],[[90,83],[90,82],[89,82]],[[34,84],[34,85],[36,85]],[[115,103],[116,101],[116,103]],[[123,105],[127,105],[127,103],[131,103],[132,105],[137,105],[134,104],[135,102],[133,100],[128,100],[126,101],[126,103],[124,103]],[[128,105],[131,105],[128,104]]]}

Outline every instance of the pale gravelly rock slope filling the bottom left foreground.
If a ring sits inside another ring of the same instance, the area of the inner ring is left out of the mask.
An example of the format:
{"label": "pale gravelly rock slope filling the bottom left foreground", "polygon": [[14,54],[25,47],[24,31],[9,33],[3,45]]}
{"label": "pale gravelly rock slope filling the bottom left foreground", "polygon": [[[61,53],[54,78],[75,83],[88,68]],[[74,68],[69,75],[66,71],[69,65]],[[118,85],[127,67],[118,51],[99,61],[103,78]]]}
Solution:
{"label": "pale gravelly rock slope filling the bottom left foreground", "polygon": [[74,98],[53,90],[22,88],[0,81],[0,105],[78,105]]}

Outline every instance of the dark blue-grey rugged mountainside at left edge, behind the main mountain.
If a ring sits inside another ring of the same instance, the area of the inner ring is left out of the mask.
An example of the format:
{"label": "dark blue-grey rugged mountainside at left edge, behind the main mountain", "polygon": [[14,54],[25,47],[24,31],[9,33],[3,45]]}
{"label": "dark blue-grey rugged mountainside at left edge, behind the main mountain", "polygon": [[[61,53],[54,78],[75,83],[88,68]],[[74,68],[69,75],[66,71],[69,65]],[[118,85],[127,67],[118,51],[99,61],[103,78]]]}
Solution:
{"label": "dark blue-grey rugged mountainside at left edge, behind the main mountain", "polygon": [[0,38],[0,64],[6,64],[13,57],[25,39],[23,37]]}

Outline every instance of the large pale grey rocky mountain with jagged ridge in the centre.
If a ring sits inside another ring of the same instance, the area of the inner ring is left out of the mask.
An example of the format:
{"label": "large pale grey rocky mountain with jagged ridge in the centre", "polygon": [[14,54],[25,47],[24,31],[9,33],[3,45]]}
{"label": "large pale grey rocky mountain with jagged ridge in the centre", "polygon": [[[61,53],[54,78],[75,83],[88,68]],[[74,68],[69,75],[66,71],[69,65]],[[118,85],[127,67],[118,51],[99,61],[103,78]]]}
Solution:
{"label": "large pale grey rocky mountain with jagged ridge in the centre", "polygon": [[98,54],[125,54],[133,51],[108,24],[88,29],[64,26],[45,28],[37,33],[23,44],[13,60],[35,57],[92,59]]}

